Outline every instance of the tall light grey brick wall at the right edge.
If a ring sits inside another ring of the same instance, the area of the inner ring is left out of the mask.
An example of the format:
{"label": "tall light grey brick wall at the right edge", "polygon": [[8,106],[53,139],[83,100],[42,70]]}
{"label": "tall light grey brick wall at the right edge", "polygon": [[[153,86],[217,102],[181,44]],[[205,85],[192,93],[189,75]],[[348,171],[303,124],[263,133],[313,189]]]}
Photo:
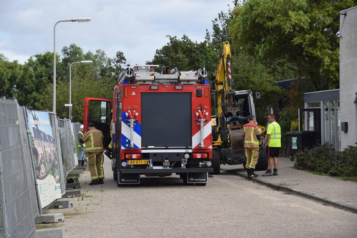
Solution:
{"label": "tall light grey brick wall at the right edge", "polygon": [[340,132],[341,149],[357,142],[357,6],[340,12],[340,108],[341,122],[348,133]]}

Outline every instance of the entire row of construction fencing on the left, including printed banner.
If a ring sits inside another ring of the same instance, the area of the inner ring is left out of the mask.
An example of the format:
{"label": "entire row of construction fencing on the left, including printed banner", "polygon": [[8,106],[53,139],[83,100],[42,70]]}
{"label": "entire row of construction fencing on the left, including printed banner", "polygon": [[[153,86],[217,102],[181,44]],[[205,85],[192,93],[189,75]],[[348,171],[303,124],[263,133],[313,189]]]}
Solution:
{"label": "entire row of construction fencing on the left, including printed banner", "polygon": [[0,238],[33,235],[36,216],[65,193],[77,124],[0,98]]}

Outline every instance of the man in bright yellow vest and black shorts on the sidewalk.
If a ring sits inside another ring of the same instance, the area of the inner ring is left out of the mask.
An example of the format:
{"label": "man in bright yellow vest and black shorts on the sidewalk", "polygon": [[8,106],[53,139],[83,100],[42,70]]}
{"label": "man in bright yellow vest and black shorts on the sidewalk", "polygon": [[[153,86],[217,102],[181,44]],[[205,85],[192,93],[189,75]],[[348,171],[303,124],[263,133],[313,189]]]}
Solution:
{"label": "man in bright yellow vest and black shorts on the sidewalk", "polygon": [[[275,121],[275,115],[268,116],[269,125],[267,128],[266,151],[268,154],[268,170],[263,176],[278,175],[278,157],[281,147],[281,130],[280,125]],[[274,173],[272,167],[274,163]]]}

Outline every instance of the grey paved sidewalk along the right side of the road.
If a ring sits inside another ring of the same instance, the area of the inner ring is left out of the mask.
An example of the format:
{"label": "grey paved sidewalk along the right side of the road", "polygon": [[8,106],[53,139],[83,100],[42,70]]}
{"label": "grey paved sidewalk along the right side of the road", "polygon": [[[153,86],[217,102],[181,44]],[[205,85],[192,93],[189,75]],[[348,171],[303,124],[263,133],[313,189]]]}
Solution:
{"label": "grey paved sidewalk along the right side of the road", "polygon": [[[289,158],[279,158],[278,176],[261,176],[265,171],[256,171],[259,177],[252,179],[273,189],[297,194],[325,204],[341,207],[357,213],[357,182],[312,174],[294,169]],[[247,176],[242,165],[221,165],[221,170],[239,176]]]}

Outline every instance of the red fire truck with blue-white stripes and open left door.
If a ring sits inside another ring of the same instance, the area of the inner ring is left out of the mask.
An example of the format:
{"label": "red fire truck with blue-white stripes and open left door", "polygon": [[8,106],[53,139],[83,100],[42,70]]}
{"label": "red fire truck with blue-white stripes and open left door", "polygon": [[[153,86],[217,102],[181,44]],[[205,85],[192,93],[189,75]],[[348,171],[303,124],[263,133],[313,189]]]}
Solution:
{"label": "red fire truck with blue-white stripes and open left door", "polygon": [[208,71],[163,67],[158,73],[157,66],[129,66],[113,103],[85,98],[84,128],[94,123],[103,131],[104,146],[111,143],[119,187],[140,183],[140,175],[173,173],[184,184],[205,186],[213,171]]}

